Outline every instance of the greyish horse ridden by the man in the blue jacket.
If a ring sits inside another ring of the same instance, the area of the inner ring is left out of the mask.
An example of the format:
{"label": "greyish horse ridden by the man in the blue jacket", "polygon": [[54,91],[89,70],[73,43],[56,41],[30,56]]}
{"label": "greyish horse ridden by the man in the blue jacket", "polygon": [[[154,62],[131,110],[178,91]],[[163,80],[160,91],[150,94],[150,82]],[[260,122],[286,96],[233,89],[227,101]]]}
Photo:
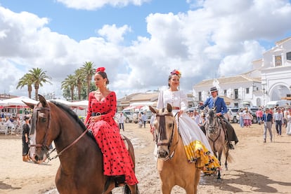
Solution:
{"label": "greyish horse ridden by the man in the blue jacket", "polygon": [[[226,170],[227,167],[227,161],[230,161],[230,155],[229,155],[229,148],[226,144],[226,133],[224,132],[224,121],[223,118],[219,118],[219,116],[216,116],[214,113],[215,109],[209,109],[208,111],[208,119],[205,122],[205,131],[206,136],[209,141],[209,144],[212,148],[212,151],[214,155],[217,158],[218,154],[218,160],[219,163],[221,163],[221,155],[224,153],[226,156],[226,162],[224,163]],[[221,179],[220,170],[218,171],[217,179]]]}

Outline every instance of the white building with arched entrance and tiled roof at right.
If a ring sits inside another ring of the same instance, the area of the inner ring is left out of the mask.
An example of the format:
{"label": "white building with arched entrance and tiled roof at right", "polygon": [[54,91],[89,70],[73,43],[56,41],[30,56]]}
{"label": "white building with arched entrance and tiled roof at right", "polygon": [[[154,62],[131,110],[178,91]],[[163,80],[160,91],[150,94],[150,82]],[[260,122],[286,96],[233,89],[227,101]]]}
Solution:
{"label": "white building with arched entrance and tiled roof at right", "polygon": [[219,96],[230,98],[228,106],[261,106],[291,94],[291,37],[252,62],[253,70],[245,74],[203,80],[193,86],[195,103],[204,102],[216,86]]}

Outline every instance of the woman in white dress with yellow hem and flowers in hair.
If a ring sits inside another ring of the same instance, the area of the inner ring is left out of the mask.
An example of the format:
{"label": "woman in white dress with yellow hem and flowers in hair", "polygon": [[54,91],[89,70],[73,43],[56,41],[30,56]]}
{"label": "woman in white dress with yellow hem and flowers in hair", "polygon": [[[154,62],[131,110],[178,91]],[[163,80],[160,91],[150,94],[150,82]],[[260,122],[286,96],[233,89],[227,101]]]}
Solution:
{"label": "woman in white dress with yellow hem and flowers in hair", "polygon": [[214,156],[205,134],[186,113],[187,95],[179,90],[180,78],[180,71],[175,69],[170,73],[169,89],[160,92],[157,109],[166,108],[167,104],[172,105],[173,114],[177,113],[176,122],[179,123],[179,133],[183,139],[188,162],[199,162],[199,167],[203,172],[215,172],[216,168],[220,167],[219,162]]}

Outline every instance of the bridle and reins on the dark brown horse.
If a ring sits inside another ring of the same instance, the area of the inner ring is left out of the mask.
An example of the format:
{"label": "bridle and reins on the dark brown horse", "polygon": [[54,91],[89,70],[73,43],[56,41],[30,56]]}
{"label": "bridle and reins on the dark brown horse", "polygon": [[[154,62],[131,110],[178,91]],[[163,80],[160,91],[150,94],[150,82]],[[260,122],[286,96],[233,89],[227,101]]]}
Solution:
{"label": "bridle and reins on the dark brown horse", "polygon": [[[36,125],[37,125],[36,120],[37,120],[38,111],[41,111],[41,110],[46,110],[46,111],[49,112],[49,120],[48,120],[48,126],[47,126],[47,128],[48,128],[49,125],[50,125],[50,123],[51,123],[51,109],[49,109],[47,107],[39,107],[39,108],[33,110],[32,118],[34,116],[36,116],[36,118],[34,118],[35,119],[34,127],[36,127]],[[32,119],[32,120],[34,120],[34,119]],[[34,130],[36,130],[36,129],[34,129]],[[30,145],[30,147],[36,147],[36,148],[39,148],[40,147],[40,148],[42,148],[46,152],[46,158],[48,158],[48,161],[50,161],[50,160],[53,160],[55,158],[58,158],[60,155],[62,155],[62,153],[64,151],[66,151],[68,148],[70,148],[71,146],[73,146],[74,144],[76,144],[77,141],[79,141],[79,139],[81,139],[84,136],[84,134],[86,134],[86,132],[88,132],[88,130],[89,130],[89,128],[86,127],[86,130],[77,139],[75,139],[75,141],[73,141],[71,144],[69,144],[68,146],[66,146],[65,148],[63,148],[63,150],[60,151],[57,155],[53,156],[53,158],[50,157],[50,154],[53,151],[55,151],[56,148],[53,148],[53,150],[51,152],[48,152],[49,148],[48,148],[48,146],[46,146],[44,144],[32,144],[32,145]]]}

